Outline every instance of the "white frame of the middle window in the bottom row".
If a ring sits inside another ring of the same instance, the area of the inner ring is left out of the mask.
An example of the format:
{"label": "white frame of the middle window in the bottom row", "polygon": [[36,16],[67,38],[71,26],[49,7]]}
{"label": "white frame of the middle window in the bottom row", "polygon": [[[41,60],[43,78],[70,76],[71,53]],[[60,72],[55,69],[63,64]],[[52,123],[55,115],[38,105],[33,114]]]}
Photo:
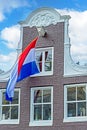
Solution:
{"label": "white frame of the middle window in the bottom row", "polygon": [[[44,89],[51,89],[51,120],[38,120],[35,121],[33,120],[33,93],[34,90],[44,90]],[[53,124],[53,87],[52,86],[47,86],[47,87],[35,87],[31,88],[31,102],[30,102],[30,122],[29,126],[52,126]]]}

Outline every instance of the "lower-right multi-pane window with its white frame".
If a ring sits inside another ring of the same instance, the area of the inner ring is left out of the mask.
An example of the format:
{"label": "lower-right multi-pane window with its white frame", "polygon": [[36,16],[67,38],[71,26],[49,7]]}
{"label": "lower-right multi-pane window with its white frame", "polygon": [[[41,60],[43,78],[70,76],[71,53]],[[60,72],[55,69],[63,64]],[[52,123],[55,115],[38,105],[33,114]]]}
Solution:
{"label": "lower-right multi-pane window with its white frame", "polygon": [[87,121],[87,84],[64,86],[64,121]]}

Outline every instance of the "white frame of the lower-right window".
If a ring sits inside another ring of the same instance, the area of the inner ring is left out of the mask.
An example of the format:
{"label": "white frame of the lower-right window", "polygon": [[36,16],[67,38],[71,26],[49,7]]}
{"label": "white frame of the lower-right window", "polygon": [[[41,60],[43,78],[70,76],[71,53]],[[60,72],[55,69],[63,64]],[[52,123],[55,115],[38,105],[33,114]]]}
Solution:
{"label": "white frame of the lower-right window", "polygon": [[[75,116],[75,117],[67,117],[67,88],[68,87],[80,87],[86,86],[86,116]],[[71,84],[71,85],[64,85],[64,120],[63,122],[84,122],[87,121],[87,83],[83,84]]]}

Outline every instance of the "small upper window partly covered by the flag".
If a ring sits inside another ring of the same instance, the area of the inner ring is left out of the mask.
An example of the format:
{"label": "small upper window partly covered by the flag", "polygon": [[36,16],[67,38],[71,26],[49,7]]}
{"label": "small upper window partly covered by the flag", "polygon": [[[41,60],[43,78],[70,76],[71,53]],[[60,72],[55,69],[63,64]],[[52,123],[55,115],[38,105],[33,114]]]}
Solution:
{"label": "small upper window partly covered by the flag", "polygon": [[53,47],[36,50],[36,62],[40,75],[53,74]]}

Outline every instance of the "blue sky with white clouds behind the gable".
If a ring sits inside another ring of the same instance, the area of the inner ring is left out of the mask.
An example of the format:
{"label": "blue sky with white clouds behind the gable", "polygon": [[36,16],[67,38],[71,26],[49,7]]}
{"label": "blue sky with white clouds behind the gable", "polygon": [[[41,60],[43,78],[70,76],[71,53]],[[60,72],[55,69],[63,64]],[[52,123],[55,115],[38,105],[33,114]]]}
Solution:
{"label": "blue sky with white clouds behind the gable", "polygon": [[18,22],[40,7],[55,8],[61,15],[71,16],[71,56],[75,63],[87,65],[87,0],[0,0],[0,69],[8,71],[16,61]]}

